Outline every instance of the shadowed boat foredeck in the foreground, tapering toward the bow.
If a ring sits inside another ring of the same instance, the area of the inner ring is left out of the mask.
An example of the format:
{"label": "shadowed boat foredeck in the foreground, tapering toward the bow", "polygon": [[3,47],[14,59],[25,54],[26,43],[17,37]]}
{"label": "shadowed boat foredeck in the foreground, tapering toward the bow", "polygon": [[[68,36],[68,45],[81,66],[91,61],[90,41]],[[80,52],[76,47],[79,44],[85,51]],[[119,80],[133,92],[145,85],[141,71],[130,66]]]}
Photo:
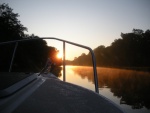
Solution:
{"label": "shadowed boat foredeck in the foreground, tapering toward the bow", "polygon": [[103,96],[50,75],[8,98],[1,113],[123,113]]}

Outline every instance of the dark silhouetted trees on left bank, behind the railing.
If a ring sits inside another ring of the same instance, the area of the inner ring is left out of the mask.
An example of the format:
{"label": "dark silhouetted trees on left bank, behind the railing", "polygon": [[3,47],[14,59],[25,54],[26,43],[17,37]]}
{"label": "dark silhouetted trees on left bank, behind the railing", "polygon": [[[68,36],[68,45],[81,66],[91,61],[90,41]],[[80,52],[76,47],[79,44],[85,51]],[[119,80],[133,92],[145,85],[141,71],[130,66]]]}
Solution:
{"label": "dark silhouetted trees on left bank, behind the railing", "polygon": [[[48,58],[51,58],[56,66],[60,66],[62,59],[56,57],[59,51],[48,46],[46,41],[38,36],[25,34],[27,28],[21,24],[18,17],[18,13],[14,13],[8,4],[0,4],[0,42],[36,39],[18,43],[12,71],[38,72],[45,66]],[[15,43],[0,45],[0,71],[9,70],[14,48]]]}

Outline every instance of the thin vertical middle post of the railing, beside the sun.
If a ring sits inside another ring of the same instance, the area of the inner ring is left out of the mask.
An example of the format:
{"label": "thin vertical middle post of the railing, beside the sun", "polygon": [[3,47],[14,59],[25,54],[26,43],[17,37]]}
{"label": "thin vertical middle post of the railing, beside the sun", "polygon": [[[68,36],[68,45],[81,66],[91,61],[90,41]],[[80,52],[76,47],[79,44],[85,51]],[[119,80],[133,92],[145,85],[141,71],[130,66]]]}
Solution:
{"label": "thin vertical middle post of the railing, beside the sun", "polygon": [[65,63],[65,61],[66,61],[66,51],[65,51],[65,41],[63,41],[63,81],[66,81],[66,67],[65,67],[65,65],[66,65],[66,63]]}

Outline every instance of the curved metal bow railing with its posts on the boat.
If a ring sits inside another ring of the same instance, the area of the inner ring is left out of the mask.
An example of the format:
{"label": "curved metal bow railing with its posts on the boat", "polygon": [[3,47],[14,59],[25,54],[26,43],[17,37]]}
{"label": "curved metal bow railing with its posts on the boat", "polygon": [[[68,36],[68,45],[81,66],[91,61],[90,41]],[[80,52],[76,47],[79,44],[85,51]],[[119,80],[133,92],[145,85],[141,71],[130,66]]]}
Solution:
{"label": "curved metal bow railing with its posts on the boat", "polygon": [[15,57],[15,53],[16,53],[18,43],[23,42],[23,41],[39,40],[39,39],[53,39],[53,40],[58,40],[58,41],[63,42],[63,81],[65,81],[65,79],[66,79],[66,76],[65,76],[66,75],[66,69],[65,69],[65,66],[66,66],[66,64],[65,64],[66,47],[65,47],[65,44],[68,43],[68,44],[71,44],[71,45],[74,45],[74,46],[78,46],[78,47],[81,47],[81,48],[84,48],[84,49],[88,49],[90,51],[91,55],[92,55],[95,92],[99,93],[99,90],[98,90],[98,76],[97,76],[97,70],[96,70],[96,59],[95,59],[95,55],[94,55],[93,50],[90,47],[87,47],[87,46],[84,46],[84,45],[81,45],[81,44],[77,44],[77,43],[74,43],[74,42],[66,41],[66,40],[63,40],[63,39],[59,39],[59,38],[41,37],[41,38],[22,39],[22,40],[15,40],[15,41],[8,41],[8,42],[0,43],[0,45],[15,43],[15,48],[14,48],[13,56],[12,56],[10,67],[9,67],[9,72],[11,72],[11,69],[12,69],[12,64],[13,64],[13,60],[14,60],[14,57]]}

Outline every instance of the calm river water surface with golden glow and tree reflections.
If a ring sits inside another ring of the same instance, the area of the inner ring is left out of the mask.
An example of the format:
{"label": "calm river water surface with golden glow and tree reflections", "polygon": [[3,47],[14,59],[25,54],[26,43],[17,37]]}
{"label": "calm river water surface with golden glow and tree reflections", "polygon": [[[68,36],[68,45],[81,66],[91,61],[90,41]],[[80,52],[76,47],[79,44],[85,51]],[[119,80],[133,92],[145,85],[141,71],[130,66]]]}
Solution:
{"label": "calm river water surface with golden glow and tree reflections", "polygon": [[[98,67],[97,73],[101,95],[115,102],[126,113],[150,113],[149,72]],[[92,67],[66,66],[67,82],[95,91],[93,79]]]}

